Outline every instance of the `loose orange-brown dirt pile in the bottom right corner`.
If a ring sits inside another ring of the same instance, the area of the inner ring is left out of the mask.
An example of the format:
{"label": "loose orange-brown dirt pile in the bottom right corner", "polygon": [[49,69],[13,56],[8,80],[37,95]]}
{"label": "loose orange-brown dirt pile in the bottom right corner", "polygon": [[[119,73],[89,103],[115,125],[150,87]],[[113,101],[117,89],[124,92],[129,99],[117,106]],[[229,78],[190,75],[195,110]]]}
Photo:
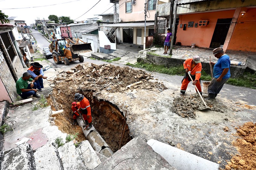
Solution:
{"label": "loose orange-brown dirt pile in the bottom right corner", "polygon": [[244,169],[256,170],[256,123],[246,122],[242,127],[236,128],[240,137],[233,143],[239,154],[227,162],[226,170]]}

